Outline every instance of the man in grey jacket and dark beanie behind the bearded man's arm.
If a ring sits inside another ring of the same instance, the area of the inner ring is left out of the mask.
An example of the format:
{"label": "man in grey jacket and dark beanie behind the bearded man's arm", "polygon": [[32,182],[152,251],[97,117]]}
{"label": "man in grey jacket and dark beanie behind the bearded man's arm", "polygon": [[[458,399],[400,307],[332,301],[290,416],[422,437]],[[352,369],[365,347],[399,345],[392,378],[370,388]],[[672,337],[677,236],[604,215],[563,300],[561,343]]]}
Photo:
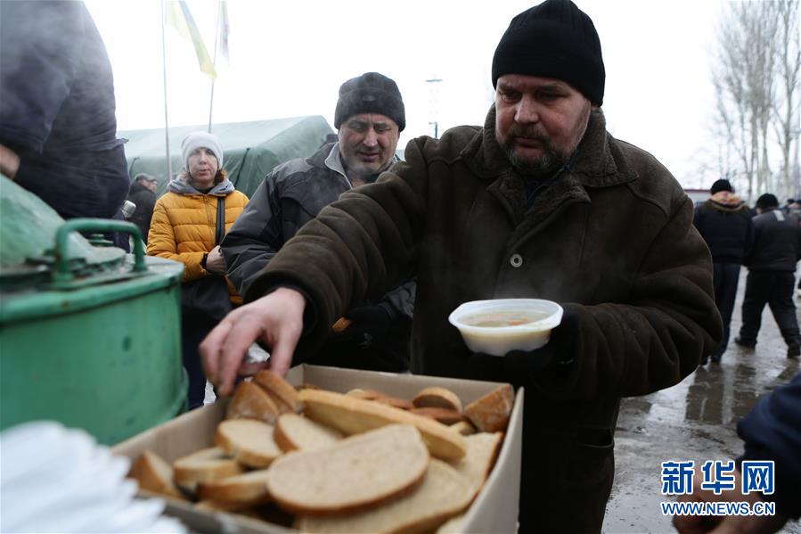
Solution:
{"label": "man in grey jacket and dark beanie behind the bearded man's arm", "polygon": [[[336,143],[323,144],[307,159],[274,168],[225,236],[228,277],[241,294],[290,237],[325,206],[359,185],[371,184],[396,159],[406,126],[396,83],[367,72],[339,88],[334,112]],[[328,366],[404,372],[415,284],[406,281],[380,297],[354,302],[336,321],[322,347],[304,351],[303,361]]]}

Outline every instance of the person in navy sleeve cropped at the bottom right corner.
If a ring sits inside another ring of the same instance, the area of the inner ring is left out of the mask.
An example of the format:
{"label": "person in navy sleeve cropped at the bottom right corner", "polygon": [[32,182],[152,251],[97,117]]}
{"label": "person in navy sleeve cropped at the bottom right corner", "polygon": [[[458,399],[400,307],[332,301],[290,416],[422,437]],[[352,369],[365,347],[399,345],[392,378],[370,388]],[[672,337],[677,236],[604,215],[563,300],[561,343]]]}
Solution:
{"label": "person in navy sleeve cropped at the bottom right corner", "polygon": [[[701,532],[749,532],[767,534],[778,532],[789,520],[801,517],[801,373],[788,384],[776,388],[761,398],[748,415],[737,423],[737,434],[743,440],[745,452],[737,459],[735,487],[741,487],[743,461],[772,461],[774,489],[772,494],[714,491],[693,486],[690,495],[679,500],[685,502],[747,502],[754,505],[769,500],[776,505],[775,515],[677,515],[674,526],[682,534]],[[696,473],[695,481],[702,474]]]}

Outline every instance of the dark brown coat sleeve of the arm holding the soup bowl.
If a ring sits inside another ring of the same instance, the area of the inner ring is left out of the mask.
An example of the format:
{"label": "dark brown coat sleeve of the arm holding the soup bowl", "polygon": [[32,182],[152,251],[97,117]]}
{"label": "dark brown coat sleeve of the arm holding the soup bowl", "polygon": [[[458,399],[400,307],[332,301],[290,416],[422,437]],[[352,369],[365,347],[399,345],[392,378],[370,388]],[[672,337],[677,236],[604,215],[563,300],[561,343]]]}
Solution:
{"label": "dark brown coat sleeve of the arm holding the soup bowl", "polygon": [[574,363],[535,374],[546,396],[645,395],[681,382],[715,349],[723,323],[712,298],[712,260],[692,226],[691,201],[672,205],[625,302],[563,305],[577,327],[555,335],[552,349],[570,351]]}

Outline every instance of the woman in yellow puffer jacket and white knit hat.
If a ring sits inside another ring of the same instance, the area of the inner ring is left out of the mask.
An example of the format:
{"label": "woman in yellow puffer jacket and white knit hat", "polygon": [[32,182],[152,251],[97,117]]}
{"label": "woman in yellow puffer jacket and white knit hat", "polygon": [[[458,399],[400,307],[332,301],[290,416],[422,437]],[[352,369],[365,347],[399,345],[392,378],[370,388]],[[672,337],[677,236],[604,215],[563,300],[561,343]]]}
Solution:
{"label": "woman in yellow puffer jacket and white knit hat", "polygon": [[[181,144],[184,171],[169,183],[169,192],[156,201],[148,234],[150,256],[184,264],[184,283],[203,276],[225,276],[225,258],[217,242],[217,202],[225,197],[225,231],[233,225],[248,197],[236,191],[223,168],[223,148],[217,136],[194,132]],[[228,283],[233,304],[241,296]],[[181,337],[184,368],[189,374],[189,407],[203,404],[206,377],[198,345],[217,325],[217,318],[183,310]]]}

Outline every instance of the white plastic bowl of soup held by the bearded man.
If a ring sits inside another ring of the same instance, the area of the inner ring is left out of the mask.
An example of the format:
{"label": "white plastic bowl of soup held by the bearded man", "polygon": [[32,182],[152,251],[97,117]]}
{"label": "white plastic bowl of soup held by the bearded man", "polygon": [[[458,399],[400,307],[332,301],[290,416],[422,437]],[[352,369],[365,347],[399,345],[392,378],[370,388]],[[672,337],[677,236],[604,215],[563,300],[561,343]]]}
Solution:
{"label": "white plastic bowl of soup held by the bearded man", "polygon": [[492,356],[543,347],[561,320],[562,307],[540,299],[473,300],[448,316],[470,350]]}

